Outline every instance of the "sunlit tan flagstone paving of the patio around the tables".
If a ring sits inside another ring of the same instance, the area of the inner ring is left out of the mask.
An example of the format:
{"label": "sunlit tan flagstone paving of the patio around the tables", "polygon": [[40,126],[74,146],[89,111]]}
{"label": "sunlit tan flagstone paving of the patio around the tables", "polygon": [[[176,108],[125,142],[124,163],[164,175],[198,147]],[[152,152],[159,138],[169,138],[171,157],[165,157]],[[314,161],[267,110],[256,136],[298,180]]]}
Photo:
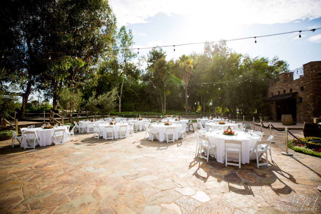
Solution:
{"label": "sunlit tan flagstone paving of the patio around the tables", "polygon": [[0,141],[0,213],[319,213],[320,199],[292,196],[320,198],[321,159],[284,156],[285,132],[273,135],[269,167],[251,160],[240,169],[195,158],[192,132],[174,143],[148,141],[144,131],[121,140],[77,133],[35,150]]}

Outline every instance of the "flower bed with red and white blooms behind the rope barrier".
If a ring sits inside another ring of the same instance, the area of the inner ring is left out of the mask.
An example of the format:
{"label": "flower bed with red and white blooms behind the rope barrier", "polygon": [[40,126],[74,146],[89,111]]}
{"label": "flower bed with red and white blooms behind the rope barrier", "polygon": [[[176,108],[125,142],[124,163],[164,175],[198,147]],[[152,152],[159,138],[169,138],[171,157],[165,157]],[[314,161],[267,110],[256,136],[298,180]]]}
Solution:
{"label": "flower bed with red and white blooms behind the rope barrier", "polygon": [[296,152],[301,152],[307,155],[313,155],[321,158],[321,143],[310,142],[310,141],[321,141],[321,138],[318,137],[306,137],[299,138],[303,142],[307,142],[309,144],[301,143],[300,141],[293,138],[288,141],[288,147]]}

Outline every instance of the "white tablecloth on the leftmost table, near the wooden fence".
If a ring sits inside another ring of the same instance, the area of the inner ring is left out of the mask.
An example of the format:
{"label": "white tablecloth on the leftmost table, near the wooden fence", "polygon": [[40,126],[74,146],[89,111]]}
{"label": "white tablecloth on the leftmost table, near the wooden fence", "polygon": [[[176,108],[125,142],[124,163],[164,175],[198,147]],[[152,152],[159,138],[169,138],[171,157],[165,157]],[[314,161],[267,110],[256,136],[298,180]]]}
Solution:
{"label": "white tablecloth on the leftmost table, near the wooden fence", "polygon": [[[58,126],[58,128],[63,128],[65,127],[65,136],[64,140],[65,142],[68,141],[68,129],[66,126]],[[24,130],[30,130],[30,131],[36,131],[37,136],[39,137],[39,146],[48,146],[51,145],[52,143],[52,137],[55,134],[55,129],[41,129],[39,128],[34,128],[34,129],[28,129],[28,128],[22,128],[22,131]],[[28,136],[29,137],[29,136]],[[36,141],[37,142],[37,141]],[[32,142],[33,143],[33,142]],[[26,138],[24,135],[22,135],[22,141],[21,141],[21,146],[20,147],[25,147],[26,144]]]}

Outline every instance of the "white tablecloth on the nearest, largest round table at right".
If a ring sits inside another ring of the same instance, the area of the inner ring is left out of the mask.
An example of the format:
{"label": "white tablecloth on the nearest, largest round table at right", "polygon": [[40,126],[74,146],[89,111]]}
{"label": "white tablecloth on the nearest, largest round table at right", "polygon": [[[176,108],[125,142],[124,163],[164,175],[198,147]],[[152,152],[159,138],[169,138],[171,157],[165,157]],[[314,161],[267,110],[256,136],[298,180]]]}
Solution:
{"label": "white tablecloth on the nearest, largest round table at right", "polygon": [[[255,146],[256,141],[261,141],[261,137],[257,134],[253,136],[246,132],[237,132],[237,136],[223,135],[221,132],[217,135],[216,132],[206,132],[205,137],[208,137],[211,145],[216,145],[214,151],[216,152],[216,160],[220,163],[225,163],[225,139],[242,141],[241,163],[246,164],[250,162],[250,147]],[[211,154],[211,153],[210,153]],[[229,153],[228,160],[238,161],[238,154]],[[256,157],[252,157],[256,158]]]}

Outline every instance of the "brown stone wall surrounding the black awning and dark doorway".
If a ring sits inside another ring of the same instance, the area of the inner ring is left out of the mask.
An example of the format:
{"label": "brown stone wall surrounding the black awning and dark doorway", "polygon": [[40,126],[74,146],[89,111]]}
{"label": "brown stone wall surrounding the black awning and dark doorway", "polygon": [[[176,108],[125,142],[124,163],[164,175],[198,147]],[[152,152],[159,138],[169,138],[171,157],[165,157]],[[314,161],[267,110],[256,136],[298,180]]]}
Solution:
{"label": "brown stone wall surrounding the black awning and dark doorway", "polygon": [[[279,81],[269,80],[266,98],[273,95],[298,92],[294,98],[301,97],[302,102],[296,102],[297,122],[309,122],[311,117],[321,116],[321,61],[309,62],[303,65],[303,76],[293,80],[293,73],[279,74]],[[268,104],[271,119],[277,119],[276,102]]]}

